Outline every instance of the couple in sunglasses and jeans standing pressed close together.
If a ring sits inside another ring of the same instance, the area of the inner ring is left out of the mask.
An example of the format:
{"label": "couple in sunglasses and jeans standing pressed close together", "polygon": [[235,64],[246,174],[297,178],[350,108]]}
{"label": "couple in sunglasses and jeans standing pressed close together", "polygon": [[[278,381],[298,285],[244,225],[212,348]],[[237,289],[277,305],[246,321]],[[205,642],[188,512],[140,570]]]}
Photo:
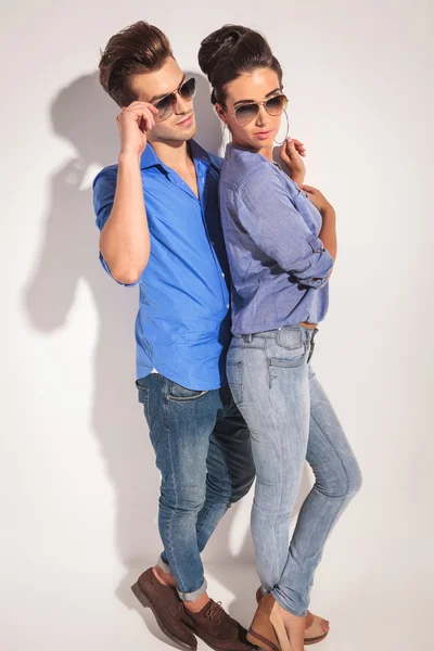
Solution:
{"label": "couple in sunglasses and jeans standing pressed close together", "polygon": [[[226,25],[202,41],[199,64],[232,136],[224,161],[193,140],[195,81],[159,29],[122,30],[100,62],[122,108],[118,164],[93,184],[100,259],[140,288],[137,387],[162,475],[164,551],[132,590],[184,649],[199,637],[216,650],[303,651],[328,635],[308,611],[314,573],[361,483],[309,366],[335,214],[303,184],[301,142],[286,139],[273,162],[288,100],[265,38]],[[290,542],[305,459],[316,482]],[[260,588],[246,631],[208,597],[201,552],[255,474]]]}

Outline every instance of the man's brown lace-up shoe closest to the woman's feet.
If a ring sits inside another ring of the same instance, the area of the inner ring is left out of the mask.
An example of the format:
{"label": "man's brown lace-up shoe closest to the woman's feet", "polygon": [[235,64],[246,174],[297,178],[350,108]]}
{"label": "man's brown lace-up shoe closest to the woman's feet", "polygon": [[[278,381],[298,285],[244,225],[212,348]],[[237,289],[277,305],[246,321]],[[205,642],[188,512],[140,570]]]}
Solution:
{"label": "man's brown lace-up shoe closest to the woman's feet", "polygon": [[215,651],[252,651],[256,648],[247,641],[246,629],[213,599],[199,613],[184,608],[182,621]]}

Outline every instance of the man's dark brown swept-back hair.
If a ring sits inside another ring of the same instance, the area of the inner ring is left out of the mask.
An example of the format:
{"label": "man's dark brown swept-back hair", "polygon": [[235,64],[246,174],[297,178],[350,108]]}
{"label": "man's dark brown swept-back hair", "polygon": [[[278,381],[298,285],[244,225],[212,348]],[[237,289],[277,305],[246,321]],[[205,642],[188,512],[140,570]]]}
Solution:
{"label": "man's dark brown swept-back hair", "polygon": [[130,78],[141,73],[159,71],[174,56],[169,40],[161,29],[139,21],[112,36],[101,50],[101,86],[119,106],[137,100]]}

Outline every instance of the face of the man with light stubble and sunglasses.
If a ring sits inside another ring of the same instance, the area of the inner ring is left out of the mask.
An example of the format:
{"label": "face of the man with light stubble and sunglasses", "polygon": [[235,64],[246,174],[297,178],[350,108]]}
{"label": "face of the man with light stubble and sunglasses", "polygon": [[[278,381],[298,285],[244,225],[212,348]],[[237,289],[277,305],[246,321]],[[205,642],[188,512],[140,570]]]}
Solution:
{"label": "face of the man with light stubble and sunglasses", "polygon": [[[176,91],[183,81],[186,75],[170,56],[159,71],[132,77],[130,86],[139,102],[156,105],[159,99]],[[148,131],[148,139],[150,142],[183,142],[193,138],[195,133],[193,101],[186,101],[177,93],[173,114],[163,122],[156,116],[155,127]]]}

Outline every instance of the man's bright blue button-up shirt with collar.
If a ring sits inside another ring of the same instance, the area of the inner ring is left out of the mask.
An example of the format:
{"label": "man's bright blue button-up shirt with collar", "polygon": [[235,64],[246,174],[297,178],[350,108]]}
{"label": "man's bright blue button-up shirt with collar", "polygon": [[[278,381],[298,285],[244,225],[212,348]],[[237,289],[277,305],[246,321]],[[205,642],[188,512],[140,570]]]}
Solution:
{"label": "man's bright blue button-up shirt with collar", "polygon": [[[205,391],[227,384],[229,267],[218,209],[222,162],[189,142],[200,199],[151,144],[141,156],[151,255],[136,283],[137,378],[156,370],[187,388]],[[93,181],[100,230],[113,207],[116,179],[117,165],[111,165]],[[110,273],[101,253],[100,259]]]}

